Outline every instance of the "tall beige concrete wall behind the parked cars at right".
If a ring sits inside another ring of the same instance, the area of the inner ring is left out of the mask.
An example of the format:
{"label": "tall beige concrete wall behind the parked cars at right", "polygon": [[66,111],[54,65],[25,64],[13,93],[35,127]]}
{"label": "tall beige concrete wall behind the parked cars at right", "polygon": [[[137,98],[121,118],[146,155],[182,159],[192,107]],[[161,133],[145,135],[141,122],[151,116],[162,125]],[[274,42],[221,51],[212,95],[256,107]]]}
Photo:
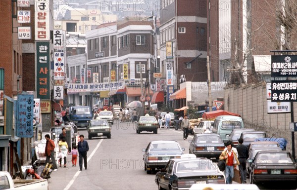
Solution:
{"label": "tall beige concrete wall behind the parked cars at right", "polygon": [[[267,114],[265,83],[226,87],[224,100],[225,110],[241,114],[246,128],[266,131],[268,137],[285,138],[288,141],[287,151],[292,153],[292,133],[289,129],[291,114]],[[297,102],[293,104],[293,107],[294,121],[297,122]],[[297,147],[296,132],[295,147]]]}

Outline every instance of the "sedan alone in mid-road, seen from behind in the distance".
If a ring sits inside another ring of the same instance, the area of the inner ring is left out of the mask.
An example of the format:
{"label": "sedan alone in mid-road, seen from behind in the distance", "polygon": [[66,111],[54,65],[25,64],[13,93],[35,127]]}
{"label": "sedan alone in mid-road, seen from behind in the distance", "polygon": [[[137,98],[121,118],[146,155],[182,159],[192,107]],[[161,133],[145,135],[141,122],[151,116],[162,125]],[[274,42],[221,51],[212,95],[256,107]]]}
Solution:
{"label": "sedan alone in mid-road, seen from behind in the distance", "polygon": [[141,116],[136,126],[136,133],[140,134],[142,131],[158,133],[158,121],[154,116]]}

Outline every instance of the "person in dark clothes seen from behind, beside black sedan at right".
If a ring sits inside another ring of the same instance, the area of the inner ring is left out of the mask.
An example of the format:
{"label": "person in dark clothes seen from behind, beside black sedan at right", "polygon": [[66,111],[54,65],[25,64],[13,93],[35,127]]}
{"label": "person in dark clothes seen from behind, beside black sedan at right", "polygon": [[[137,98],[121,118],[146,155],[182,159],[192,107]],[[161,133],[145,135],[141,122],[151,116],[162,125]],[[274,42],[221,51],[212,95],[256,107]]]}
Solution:
{"label": "person in dark clothes seen from behind, beside black sedan at right", "polygon": [[238,152],[238,160],[239,160],[239,172],[241,176],[242,184],[247,183],[247,158],[248,158],[248,149],[247,146],[243,145],[244,139],[238,139],[239,145],[236,147]]}

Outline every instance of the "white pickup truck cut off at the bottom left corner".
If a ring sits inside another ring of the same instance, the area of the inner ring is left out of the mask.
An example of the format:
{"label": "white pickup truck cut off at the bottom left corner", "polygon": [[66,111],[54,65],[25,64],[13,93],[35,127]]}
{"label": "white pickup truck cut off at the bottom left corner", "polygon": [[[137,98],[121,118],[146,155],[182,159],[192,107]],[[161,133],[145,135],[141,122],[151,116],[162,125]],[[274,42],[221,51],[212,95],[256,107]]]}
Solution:
{"label": "white pickup truck cut off at the bottom left corner", "polygon": [[0,171],[1,190],[48,190],[47,180],[13,180],[6,171]]}

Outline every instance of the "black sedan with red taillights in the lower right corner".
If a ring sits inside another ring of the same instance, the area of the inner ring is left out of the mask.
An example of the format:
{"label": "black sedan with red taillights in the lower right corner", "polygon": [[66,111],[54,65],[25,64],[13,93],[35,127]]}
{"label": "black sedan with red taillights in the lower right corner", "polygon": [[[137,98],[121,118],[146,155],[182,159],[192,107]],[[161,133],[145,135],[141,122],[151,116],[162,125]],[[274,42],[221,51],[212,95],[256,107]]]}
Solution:
{"label": "black sedan with red taillights in the lower right corner", "polygon": [[261,151],[258,152],[249,168],[250,184],[258,182],[279,181],[281,183],[297,181],[297,165],[289,152]]}

